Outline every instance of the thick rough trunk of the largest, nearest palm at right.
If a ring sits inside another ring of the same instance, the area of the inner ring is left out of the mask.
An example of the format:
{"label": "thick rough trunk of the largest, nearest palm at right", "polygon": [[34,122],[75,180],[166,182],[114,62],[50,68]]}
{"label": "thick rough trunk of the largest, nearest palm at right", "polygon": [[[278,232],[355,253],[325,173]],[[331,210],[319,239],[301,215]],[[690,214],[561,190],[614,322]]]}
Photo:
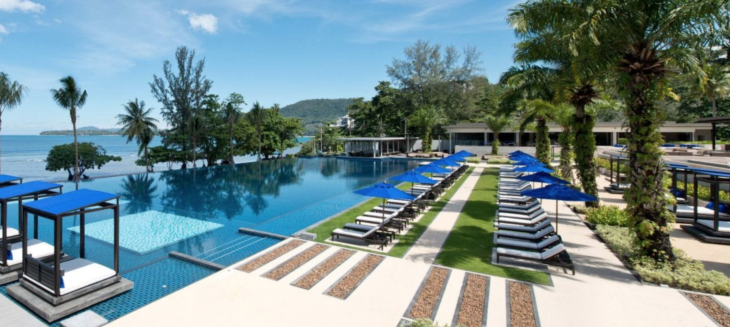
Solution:
{"label": "thick rough trunk of the largest, nearest palm at right", "polygon": [[659,149],[662,142],[659,126],[664,113],[655,103],[658,81],[666,71],[665,63],[646,42],[640,42],[624,56],[619,69],[628,78],[622,84],[627,86],[626,94],[630,97],[626,104],[631,186],[624,195],[628,203],[626,210],[641,251],[655,260],[673,260],[668,226],[673,218],[666,209],[662,183],[665,169]]}

